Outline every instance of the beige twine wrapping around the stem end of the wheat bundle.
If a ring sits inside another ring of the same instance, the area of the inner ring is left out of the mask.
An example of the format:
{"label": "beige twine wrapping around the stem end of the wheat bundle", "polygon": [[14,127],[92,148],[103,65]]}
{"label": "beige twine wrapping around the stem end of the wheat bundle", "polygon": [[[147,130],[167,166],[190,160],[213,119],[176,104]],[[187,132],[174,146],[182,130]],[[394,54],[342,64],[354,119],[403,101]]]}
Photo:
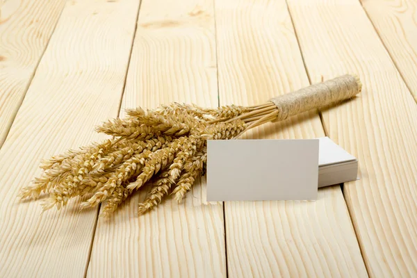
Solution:
{"label": "beige twine wrapping around the stem end of the wheat bundle", "polygon": [[350,99],[361,92],[362,84],[357,76],[343,75],[322,83],[313,84],[286,95],[270,99],[277,106],[275,120],[329,106]]}

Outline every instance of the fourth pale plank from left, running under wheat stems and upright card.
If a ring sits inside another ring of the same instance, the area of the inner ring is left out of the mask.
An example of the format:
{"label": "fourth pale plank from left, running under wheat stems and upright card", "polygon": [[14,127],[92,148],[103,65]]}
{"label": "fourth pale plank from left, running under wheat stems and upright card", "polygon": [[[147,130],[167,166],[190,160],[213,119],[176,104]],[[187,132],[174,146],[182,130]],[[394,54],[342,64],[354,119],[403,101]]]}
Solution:
{"label": "fourth pale plank from left, running under wheat stems and upright card", "polygon": [[[221,105],[260,104],[309,85],[285,1],[218,0],[215,15]],[[322,136],[312,111],[246,138]],[[316,202],[224,206],[229,277],[367,277],[340,186],[320,189]]]}

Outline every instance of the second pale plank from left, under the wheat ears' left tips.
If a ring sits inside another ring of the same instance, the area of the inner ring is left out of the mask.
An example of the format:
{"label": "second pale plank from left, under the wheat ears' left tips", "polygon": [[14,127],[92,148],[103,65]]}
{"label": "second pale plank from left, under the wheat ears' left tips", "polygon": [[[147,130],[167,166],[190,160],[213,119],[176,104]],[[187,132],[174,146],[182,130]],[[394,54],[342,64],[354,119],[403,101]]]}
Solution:
{"label": "second pale plank from left, under the wheat ears' left tips", "polygon": [[94,126],[115,117],[138,1],[68,1],[8,138],[0,150],[0,277],[84,275],[97,208],[80,199],[42,213],[17,193],[42,158],[98,140]]}

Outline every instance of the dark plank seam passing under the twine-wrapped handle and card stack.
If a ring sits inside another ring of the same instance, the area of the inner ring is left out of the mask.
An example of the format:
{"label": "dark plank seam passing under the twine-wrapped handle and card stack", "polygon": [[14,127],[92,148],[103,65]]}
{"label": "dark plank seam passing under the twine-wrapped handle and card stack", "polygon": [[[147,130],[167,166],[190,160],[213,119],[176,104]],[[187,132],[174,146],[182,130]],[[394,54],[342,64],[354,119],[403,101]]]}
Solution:
{"label": "dark plank seam passing under the twine-wrapped handle and card stack", "polygon": [[[358,1],[360,1],[360,0],[358,0]],[[308,70],[308,68],[306,67],[306,63],[305,63],[305,60],[304,60],[304,54],[302,53],[302,49],[301,49],[301,45],[300,45],[300,39],[298,38],[298,34],[297,34],[297,28],[295,28],[295,24],[294,24],[294,21],[293,21],[293,16],[292,16],[292,14],[291,14],[291,9],[290,9],[290,7],[288,6],[288,0],[286,0],[286,7],[287,7],[287,10],[288,10],[288,14],[290,15],[291,25],[293,26],[293,30],[294,30],[294,34],[295,34],[295,38],[296,38],[296,40],[297,40],[297,44],[298,44],[298,49],[299,49],[299,51],[300,51],[300,55],[301,55],[301,58],[302,58],[302,63],[303,63],[303,65],[304,65],[304,69],[306,70],[307,78],[309,79],[309,83],[310,83],[310,85],[311,85],[311,78],[310,78],[309,70]],[[374,27],[374,28],[375,28],[375,27]],[[320,117],[320,122],[321,122],[321,124],[322,124],[323,131],[325,132],[325,136],[328,136],[328,134],[329,134],[329,133],[327,132],[326,124],[325,124],[325,121],[323,120],[323,117],[322,117],[322,112],[321,112],[321,111],[318,111],[318,115],[319,115],[319,117]],[[364,259],[364,256],[363,256],[363,250],[362,250],[362,247],[361,247],[361,245],[359,244],[358,233],[357,233],[357,230],[356,230],[356,228],[355,228],[355,226],[354,226],[354,224],[353,224],[353,220],[352,220],[352,216],[351,216],[351,211],[350,211],[350,209],[349,209],[349,206],[347,206],[347,202],[346,202],[346,199],[345,199],[345,194],[343,193],[343,183],[341,183],[340,188],[341,188],[341,191],[342,191],[343,200],[345,201],[345,206],[346,206],[346,208],[347,208],[347,213],[348,213],[348,215],[349,215],[350,224],[352,224],[353,231],[354,231],[354,236],[356,237],[356,240],[357,240],[357,243],[358,243],[358,246],[359,246],[359,252],[361,252],[362,261],[363,261],[363,264],[365,265],[365,269],[366,269],[366,272],[367,272],[366,274],[367,274],[367,275],[368,275],[368,277],[369,277],[369,272],[370,272],[370,270],[368,270],[368,265],[367,265],[366,260]]]}

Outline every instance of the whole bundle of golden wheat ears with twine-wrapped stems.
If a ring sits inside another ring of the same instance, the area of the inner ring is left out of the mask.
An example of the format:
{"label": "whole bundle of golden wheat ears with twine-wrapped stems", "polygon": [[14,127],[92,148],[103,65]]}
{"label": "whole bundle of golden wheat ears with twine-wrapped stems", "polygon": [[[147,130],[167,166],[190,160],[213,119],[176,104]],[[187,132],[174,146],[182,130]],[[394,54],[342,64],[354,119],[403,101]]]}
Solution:
{"label": "whole bundle of golden wheat ears with twine-wrapped stems", "polygon": [[42,203],[47,210],[87,195],[90,198],[81,208],[106,201],[101,215],[110,215],[129,195],[150,183],[152,188],[138,205],[138,213],[154,208],[165,195],[172,194],[181,202],[205,170],[207,140],[238,138],[254,126],[335,104],[360,90],[359,79],[346,75],[257,106],[211,109],[174,103],[154,110],[128,110],[126,118],[97,127],[113,139],[42,161],[42,174],[22,188],[19,196],[38,198],[48,193]]}

